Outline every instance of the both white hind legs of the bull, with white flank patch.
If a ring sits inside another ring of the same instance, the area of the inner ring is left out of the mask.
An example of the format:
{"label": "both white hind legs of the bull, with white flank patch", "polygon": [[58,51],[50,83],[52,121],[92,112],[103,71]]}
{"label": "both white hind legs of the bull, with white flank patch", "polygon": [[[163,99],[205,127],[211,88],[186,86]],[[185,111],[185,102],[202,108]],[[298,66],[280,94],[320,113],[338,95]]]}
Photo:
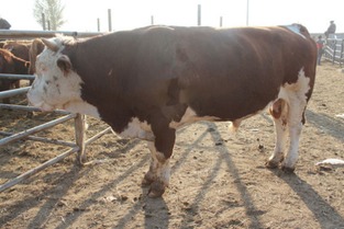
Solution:
{"label": "both white hind legs of the bull, with white flank patch", "polygon": [[[286,83],[280,88],[278,99],[282,99],[287,105],[288,111],[285,114],[287,116],[287,125],[289,127],[289,137],[290,137],[290,146],[288,152],[285,154],[285,159],[282,165],[286,168],[295,168],[295,164],[298,160],[298,148],[299,148],[299,140],[301,135],[302,128],[302,113],[307,105],[307,96],[306,94],[310,90],[310,78],[304,76],[303,68],[299,71],[298,81],[296,83]],[[284,115],[284,114],[282,114]],[[281,121],[277,121],[281,122]],[[277,160],[281,157],[279,153],[285,148],[285,130],[282,129],[281,123],[276,123],[276,148],[274,154],[270,157],[269,160],[277,162]]]}

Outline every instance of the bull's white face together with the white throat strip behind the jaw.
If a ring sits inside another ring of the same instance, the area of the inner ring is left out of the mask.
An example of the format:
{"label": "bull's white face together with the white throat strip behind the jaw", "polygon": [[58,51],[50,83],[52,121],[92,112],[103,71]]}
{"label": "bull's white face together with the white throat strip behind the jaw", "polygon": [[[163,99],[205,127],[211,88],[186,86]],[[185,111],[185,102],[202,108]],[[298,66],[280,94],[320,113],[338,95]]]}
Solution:
{"label": "bull's white face together with the white throat strip behind the jaw", "polygon": [[[36,59],[36,78],[27,92],[29,102],[42,111],[66,110],[99,117],[97,108],[81,99],[81,78],[71,69],[70,60],[60,54],[64,46],[54,43],[55,50],[45,48]],[[69,69],[60,68],[64,61]]]}

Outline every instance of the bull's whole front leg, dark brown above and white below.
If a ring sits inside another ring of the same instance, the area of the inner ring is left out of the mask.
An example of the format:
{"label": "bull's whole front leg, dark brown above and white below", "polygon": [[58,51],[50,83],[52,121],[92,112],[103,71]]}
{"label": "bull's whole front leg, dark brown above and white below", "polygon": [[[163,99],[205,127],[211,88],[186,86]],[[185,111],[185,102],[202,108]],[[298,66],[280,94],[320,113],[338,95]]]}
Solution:
{"label": "bull's whole front leg, dark brown above and white below", "polygon": [[165,126],[154,128],[154,141],[148,141],[148,148],[152,154],[152,161],[148,172],[145,174],[142,184],[151,185],[149,197],[159,197],[168,186],[170,168],[169,158],[176,139],[176,130]]}

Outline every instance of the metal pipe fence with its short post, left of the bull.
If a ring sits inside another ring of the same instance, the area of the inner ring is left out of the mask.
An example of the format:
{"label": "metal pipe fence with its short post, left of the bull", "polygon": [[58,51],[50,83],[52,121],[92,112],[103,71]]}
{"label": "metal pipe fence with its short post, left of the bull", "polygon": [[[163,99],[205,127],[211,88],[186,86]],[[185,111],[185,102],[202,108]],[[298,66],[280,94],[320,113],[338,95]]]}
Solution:
{"label": "metal pipe fence with its short post, left of the bull", "polygon": [[[3,31],[0,30],[0,38],[11,38],[11,39],[25,39],[25,38],[36,38],[36,37],[53,37],[56,34],[63,35],[71,35],[76,37],[90,37],[95,35],[99,35],[100,33],[78,33],[78,32],[52,32],[52,31]],[[21,79],[21,80],[32,80],[34,76],[30,75],[4,75],[0,73],[1,79]],[[29,91],[30,87],[13,89],[8,91],[0,92],[0,99],[11,98],[14,95],[23,94]],[[0,112],[4,110],[20,110],[26,112],[40,112],[38,108],[27,105],[14,105],[14,104],[3,104],[0,103]],[[47,144],[55,144],[60,146],[70,147],[67,151],[63,152],[62,154],[42,163],[41,165],[12,179],[7,181],[5,183],[0,185],[0,192],[8,190],[9,187],[24,181],[25,179],[30,178],[31,175],[42,171],[43,169],[57,163],[58,161],[63,160],[64,158],[77,152],[77,160],[80,164],[84,164],[86,161],[85,149],[88,145],[103,136],[104,134],[111,131],[111,128],[108,127],[104,130],[96,134],[89,139],[86,139],[86,116],[81,114],[69,114],[66,111],[55,111],[54,113],[64,115],[51,122],[44,123],[42,125],[35,126],[30,129],[25,129],[20,133],[8,133],[8,131],[0,131],[0,136],[5,136],[0,139],[0,148],[4,145],[11,144],[16,140],[34,140],[34,141],[42,141]],[[33,136],[34,134],[56,126],[58,124],[65,123],[67,121],[74,119],[75,123],[75,138],[76,142],[65,141],[65,140],[57,140],[57,139],[49,139],[44,137]],[[3,152],[0,152],[3,153]]]}

